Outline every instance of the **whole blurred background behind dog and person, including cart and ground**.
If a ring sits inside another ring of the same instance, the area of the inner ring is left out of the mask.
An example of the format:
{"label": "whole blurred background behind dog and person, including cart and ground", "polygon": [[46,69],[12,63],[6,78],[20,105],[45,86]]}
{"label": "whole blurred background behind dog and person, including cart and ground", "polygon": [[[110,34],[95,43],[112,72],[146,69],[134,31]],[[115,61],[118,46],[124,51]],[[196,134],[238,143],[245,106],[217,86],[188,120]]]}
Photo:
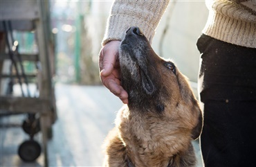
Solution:
{"label": "whole blurred background behind dog and person, including cart and ground", "polygon": [[[0,166],[101,166],[122,106],[98,72],[112,3],[1,0]],[[152,43],[196,95],[196,40],[207,17],[204,1],[170,1]]]}

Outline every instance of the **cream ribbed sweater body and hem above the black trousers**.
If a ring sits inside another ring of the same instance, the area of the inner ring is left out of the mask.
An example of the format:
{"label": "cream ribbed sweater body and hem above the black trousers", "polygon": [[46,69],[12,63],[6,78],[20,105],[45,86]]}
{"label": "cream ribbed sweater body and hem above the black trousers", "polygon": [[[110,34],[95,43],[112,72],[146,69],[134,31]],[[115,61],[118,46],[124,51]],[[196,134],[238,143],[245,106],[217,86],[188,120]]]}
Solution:
{"label": "cream ribbed sweater body and hem above the black trousers", "polygon": [[256,48],[256,0],[205,0],[209,9],[203,33],[223,42]]}

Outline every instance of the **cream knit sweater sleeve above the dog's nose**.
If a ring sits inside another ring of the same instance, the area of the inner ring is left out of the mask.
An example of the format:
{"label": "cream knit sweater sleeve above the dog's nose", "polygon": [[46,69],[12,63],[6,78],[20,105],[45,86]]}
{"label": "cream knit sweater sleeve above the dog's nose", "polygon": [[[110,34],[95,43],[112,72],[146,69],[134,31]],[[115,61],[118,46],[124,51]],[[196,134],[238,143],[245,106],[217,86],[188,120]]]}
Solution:
{"label": "cream knit sweater sleeve above the dog's nose", "polygon": [[126,30],[131,26],[138,26],[151,43],[156,27],[168,3],[169,0],[114,1],[107,21],[102,46],[111,40],[122,40],[125,37]]}

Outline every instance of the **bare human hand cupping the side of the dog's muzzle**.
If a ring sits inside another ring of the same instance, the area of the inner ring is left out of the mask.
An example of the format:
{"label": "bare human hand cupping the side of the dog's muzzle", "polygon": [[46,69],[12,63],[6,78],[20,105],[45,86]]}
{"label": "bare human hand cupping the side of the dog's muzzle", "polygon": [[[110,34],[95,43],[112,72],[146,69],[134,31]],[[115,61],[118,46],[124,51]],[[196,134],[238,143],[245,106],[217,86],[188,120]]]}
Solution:
{"label": "bare human hand cupping the side of the dog's muzzle", "polygon": [[110,41],[100,50],[100,79],[105,87],[118,96],[122,103],[128,103],[128,94],[120,85],[120,64],[118,49],[120,41]]}

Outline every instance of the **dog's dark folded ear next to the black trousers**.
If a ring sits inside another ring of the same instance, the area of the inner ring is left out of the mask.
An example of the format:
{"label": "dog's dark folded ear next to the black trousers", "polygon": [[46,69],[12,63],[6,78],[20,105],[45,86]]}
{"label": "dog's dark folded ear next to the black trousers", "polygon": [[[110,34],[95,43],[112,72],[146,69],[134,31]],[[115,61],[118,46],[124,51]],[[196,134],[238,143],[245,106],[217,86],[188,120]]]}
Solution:
{"label": "dog's dark folded ear next to the black trousers", "polygon": [[192,133],[191,133],[191,137],[192,139],[196,140],[200,137],[201,132],[203,130],[203,115],[201,112],[201,109],[198,105],[198,103],[196,102],[196,106],[193,107],[195,109],[195,113],[199,114],[198,116],[198,123],[197,125],[192,129]]}

